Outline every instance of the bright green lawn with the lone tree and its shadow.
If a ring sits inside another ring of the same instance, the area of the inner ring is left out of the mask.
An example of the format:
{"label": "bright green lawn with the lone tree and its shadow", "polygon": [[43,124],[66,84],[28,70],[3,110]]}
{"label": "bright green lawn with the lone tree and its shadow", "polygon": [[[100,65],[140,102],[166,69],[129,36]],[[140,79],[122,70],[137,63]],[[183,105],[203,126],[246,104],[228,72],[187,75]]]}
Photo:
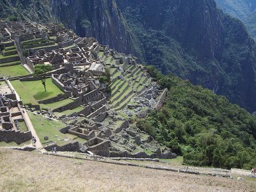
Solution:
{"label": "bright green lawn with the lone tree and its shadow", "polygon": [[47,92],[44,92],[42,81],[12,81],[13,87],[22,98],[24,104],[38,104],[36,100],[50,99],[58,94],[63,94],[60,88],[52,83],[51,78],[46,79],[45,84]]}

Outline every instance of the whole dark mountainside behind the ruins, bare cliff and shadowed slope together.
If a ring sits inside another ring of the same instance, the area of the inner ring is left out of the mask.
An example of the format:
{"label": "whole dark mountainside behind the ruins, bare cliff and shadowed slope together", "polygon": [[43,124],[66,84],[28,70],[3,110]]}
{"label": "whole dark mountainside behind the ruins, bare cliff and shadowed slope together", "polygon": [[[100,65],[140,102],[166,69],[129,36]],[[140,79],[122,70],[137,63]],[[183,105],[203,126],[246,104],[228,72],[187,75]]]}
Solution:
{"label": "whole dark mountainside behind the ruins, bare cliff and shadowed slope together", "polygon": [[256,111],[255,42],[213,0],[4,0],[0,7],[0,17],[58,20]]}

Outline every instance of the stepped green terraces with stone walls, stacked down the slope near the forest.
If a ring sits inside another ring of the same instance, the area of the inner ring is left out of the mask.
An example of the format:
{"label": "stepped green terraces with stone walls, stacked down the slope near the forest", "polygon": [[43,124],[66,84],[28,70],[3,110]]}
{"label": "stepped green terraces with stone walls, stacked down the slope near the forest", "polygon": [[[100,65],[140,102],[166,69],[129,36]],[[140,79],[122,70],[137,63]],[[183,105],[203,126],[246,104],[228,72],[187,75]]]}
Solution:
{"label": "stepped green terraces with stone walls, stacked down the slope near the forest", "polygon": [[132,97],[140,95],[150,85],[150,76],[135,61],[125,62],[120,55],[104,55],[103,52],[99,52],[99,58],[105,61],[112,79],[109,99],[111,108],[124,109]]}

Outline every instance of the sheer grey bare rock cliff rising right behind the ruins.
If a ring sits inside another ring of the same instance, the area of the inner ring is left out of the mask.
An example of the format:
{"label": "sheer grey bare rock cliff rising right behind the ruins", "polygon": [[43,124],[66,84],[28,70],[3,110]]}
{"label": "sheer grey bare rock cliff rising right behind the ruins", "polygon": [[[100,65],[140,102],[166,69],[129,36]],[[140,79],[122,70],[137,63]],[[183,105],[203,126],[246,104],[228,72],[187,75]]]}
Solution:
{"label": "sheer grey bare rock cliff rising right behind the ruins", "polygon": [[115,1],[51,1],[51,13],[81,36],[95,36],[120,52],[132,49],[132,37]]}

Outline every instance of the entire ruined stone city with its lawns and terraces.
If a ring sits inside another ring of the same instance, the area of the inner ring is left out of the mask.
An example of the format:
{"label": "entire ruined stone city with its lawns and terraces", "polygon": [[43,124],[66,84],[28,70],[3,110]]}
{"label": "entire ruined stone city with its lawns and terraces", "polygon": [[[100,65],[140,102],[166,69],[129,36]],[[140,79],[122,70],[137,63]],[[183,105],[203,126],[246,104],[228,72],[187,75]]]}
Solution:
{"label": "entire ruined stone city with its lawns and terraces", "polygon": [[[1,20],[0,36],[0,142],[20,144],[36,134],[45,150],[176,156],[134,124],[161,108],[167,93],[134,56],[58,24]],[[38,65],[52,66],[47,92],[33,75]]]}

